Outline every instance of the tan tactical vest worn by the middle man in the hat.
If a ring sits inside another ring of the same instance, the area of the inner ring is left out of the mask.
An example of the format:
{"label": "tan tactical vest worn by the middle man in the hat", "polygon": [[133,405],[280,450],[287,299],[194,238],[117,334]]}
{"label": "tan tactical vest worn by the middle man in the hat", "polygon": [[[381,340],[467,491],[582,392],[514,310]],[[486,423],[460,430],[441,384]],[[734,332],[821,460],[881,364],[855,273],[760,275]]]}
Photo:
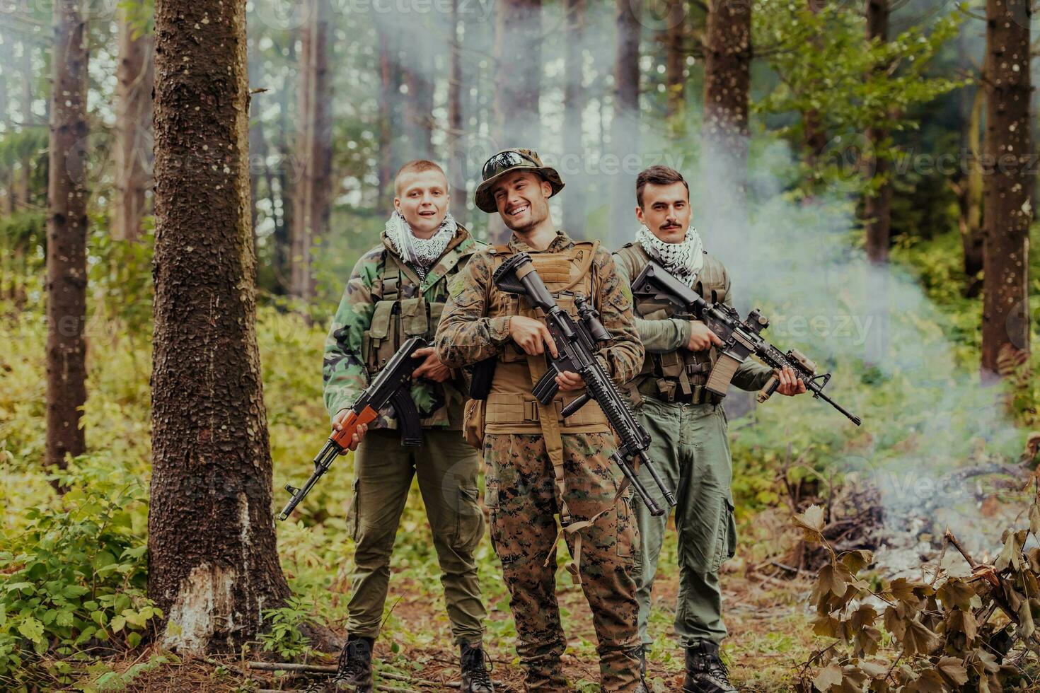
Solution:
{"label": "tan tactical vest worn by the middle man in the hat", "polygon": [[[593,262],[597,243],[575,242],[562,252],[531,252],[530,259],[545,286],[552,292],[556,303],[567,311],[575,321],[578,313],[574,306],[574,294],[592,297],[599,303],[599,279]],[[493,258],[492,271],[497,269],[513,250],[508,245],[496,245],[488,250]],[[530,308],[527,301],[516,294],[504,293],[488,283],[487,315],[490,318],[521,315],[542,319],[540,311]],[[503,345],[498,355],[495,377],[491,383],[486,409],[486,431],[488,433],[542,433],[542,417],[550,411],[540,406],[530,394],[535,381],[546,371],[546,356],[528,356],[512,341]],[[580,393],[561,393],[552,402],[555,422],[561,433],[599,433],[609,431],[606,417],[599,404],[588,402],[564,419],[561,411],[565,404]]]}

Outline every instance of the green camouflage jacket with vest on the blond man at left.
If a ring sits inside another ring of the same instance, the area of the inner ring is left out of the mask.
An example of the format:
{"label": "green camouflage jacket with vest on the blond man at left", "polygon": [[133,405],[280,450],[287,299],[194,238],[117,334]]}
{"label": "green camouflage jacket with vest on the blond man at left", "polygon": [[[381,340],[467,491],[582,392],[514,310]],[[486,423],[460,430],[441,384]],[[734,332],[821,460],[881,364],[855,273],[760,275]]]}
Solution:
{"label": "green camouflage jacket with vest on the blond man at left", "polygon": [[[354,266],[326,340],[322,378],[330,417],[349,407],[368,387],[369,376],[378,372],[380,357],[386,355],[381,351],[376,356],[379,338],[385,343],[384,351],[390,353],[409,337],[433,342],[449,283],[483,247],[460,225],[454,239],[420,279],[393,250],[386,234],[382,241]],[[385,323],[379,335],[373,329],[373,316]],[[460,429],[465,391],[458,374],[444,383],[426,379],[413,382],[412,398],[422,426]],[[396,428],[393,409],[388,406],[381,411],[370,427]]]}

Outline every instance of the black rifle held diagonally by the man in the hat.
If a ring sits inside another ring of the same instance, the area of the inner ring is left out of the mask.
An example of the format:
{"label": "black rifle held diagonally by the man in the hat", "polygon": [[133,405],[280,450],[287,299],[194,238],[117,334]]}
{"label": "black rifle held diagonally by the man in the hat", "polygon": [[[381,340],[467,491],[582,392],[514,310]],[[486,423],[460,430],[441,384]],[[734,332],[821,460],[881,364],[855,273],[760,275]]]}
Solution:
{"label": "black rifle held diagonally by the man in the hat", "polygon": [[545,314],[549,334],[556,344],[560,356],[550,358],[551,368],[535,383],[531,394],[542,404],[549,404],[558,390],[555,379],[557,373],[571,371],[580,375],[584,379],[586,392],[563,408],[563,416],[569,417],[590,399],[596,400],[620,442],[618,450],[610,459],[621,468],[621,472],[650,509],[650,513],[664,514],[665,510],[650,497],[646,486],[636,476],[638,467],[633,467],[632,460],[647,468],[657,487],[665,495],[669,507],[675,505],[675,496],[665,485],[646,454],[647,448],[650,447],[650,434],[632,416],[627,399],[618,391],[614,380],[596,358],[599,343],[610,340],[610,334],[599,321],[596,309],[584,296],[575,295],[574,303],[580,317],[580,322],[575,322],[569,313],[556,304],[556,300],[542,282],[542,277],[538,275],[526,252],[518,252],[502,263],[495,270],[492,281],[500,290],[523,296],[532,306],[541,309]]}

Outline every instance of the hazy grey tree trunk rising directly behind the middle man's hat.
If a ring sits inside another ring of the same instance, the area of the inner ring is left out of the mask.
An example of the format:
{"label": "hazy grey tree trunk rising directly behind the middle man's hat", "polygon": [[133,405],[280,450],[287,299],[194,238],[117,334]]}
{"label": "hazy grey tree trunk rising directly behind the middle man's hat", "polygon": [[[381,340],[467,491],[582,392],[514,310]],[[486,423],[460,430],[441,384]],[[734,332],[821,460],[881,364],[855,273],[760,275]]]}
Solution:
{"label": "hazy grey tree trunk rising directly behind the middle man's hat", "polygon": [[[495,10],[493,143],[498,150],[524,146],[538,151],[542,0],[503,0]],[[488,235],[494,243],[509,239],[510,231],[498,215],[492,215]]]}

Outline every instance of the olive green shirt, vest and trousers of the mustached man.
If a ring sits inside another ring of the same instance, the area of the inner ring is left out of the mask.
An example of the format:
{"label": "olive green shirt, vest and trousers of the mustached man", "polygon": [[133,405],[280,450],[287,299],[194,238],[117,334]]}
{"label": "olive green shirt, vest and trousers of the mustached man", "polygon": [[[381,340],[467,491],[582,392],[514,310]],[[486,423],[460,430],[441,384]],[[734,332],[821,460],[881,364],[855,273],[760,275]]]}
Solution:
{"label": "olive green shirt, vest and trousers of the mustached man", "polygon": [[[619,274],[635,278],[650,257],[638,243],[615,254]],[[704,254],[704,266],[694,289],[709,302],[730,303],[730,283],[719,260]],[[679,533],[679,595],[675,633],[682,646],[699,640],[719,643],[726,637],[722,620],[719,567],[736,550],[733,465],[727,439],[726,412],[721,399],[704,389],[711,365],[718,358],[712,347],[690,351],[688,319],[673,318],[668,304],[635,297],[635,324],[646,348],[640,374],[628,383],[640,422],[653,442],[647,451],[678,505],[675,526]],[[773,371],[751,359],[742,364],[732,382],[743,390],[759,390]],[[667,508],[660,489],[646,470],[640,477],[658,505]],[[668,513],[654,517],[635,500],[640,527],[643,571],[638,578],[640,637],[650,643],[647,619],[657,558],[668,526]]]}

